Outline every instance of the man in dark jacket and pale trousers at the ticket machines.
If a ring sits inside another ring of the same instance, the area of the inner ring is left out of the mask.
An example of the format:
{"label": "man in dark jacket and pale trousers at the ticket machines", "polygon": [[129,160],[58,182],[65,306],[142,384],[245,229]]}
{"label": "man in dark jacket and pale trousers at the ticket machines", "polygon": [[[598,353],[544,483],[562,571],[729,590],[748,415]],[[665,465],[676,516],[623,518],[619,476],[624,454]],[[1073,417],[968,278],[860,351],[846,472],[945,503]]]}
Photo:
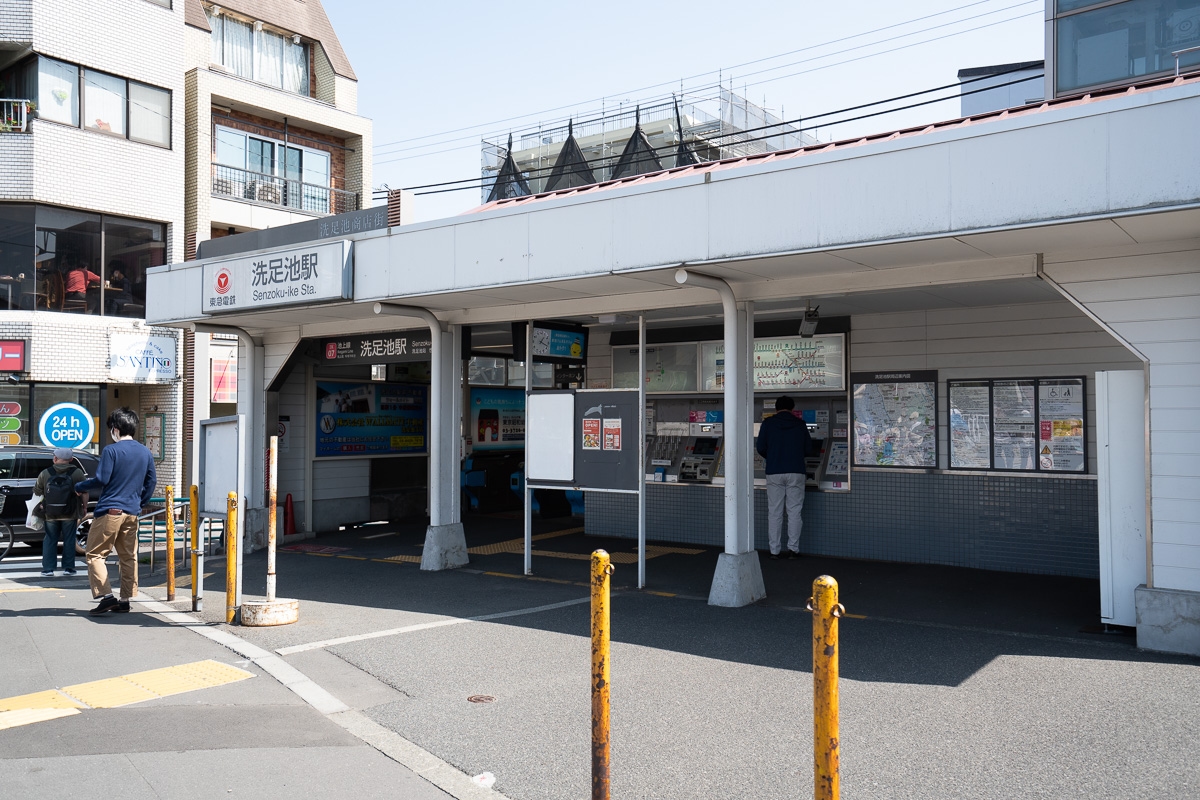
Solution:
{"label": "man in dark jacket and pale trousers at the ticket machines", "polygon": [[755,449],[767,459],[767,535],[770,558],[780,558],[784,503],[787,503],[786,558],[800,555],[804,519],[804,457],[812,450],[812,438],[804,420],[792,414],[796,403],[784,395],[775,401],[775,414],[758,426]]}

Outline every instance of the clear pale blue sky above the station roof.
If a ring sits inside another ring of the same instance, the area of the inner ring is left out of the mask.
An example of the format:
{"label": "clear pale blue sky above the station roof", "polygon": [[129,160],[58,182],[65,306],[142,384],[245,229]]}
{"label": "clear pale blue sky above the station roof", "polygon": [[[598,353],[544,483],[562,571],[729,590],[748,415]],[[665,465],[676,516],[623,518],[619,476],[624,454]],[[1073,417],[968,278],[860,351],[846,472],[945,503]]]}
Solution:
{"label": "clear pale blue sky above the station roof", "polygon": [[[956,80],[960,68],[1043,58],[1044,0],[602,4],[324,0],[374,121],[376,187],[480,174],[480,140],[588,118],[719,77],[785,119]],[[946,92],[952,94],[952,92]],[[918,102],[918,97],[905,102]],[[959,101],[821,128],[836,139],[959,116]],[[416,198],[416,219],[479,191]]]}

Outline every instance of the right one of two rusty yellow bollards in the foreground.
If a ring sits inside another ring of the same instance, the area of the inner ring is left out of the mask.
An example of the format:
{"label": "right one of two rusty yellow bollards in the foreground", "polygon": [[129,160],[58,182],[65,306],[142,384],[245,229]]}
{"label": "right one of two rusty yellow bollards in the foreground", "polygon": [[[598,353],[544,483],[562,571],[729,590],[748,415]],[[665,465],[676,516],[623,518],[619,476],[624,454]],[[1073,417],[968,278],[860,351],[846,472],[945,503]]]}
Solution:
{"label": "right one of two rusty yellow bollards in the foreground", "polygon": [[838,800],[841,775],[838,754],[838,582],[827,575],[812,582],[812,796]]}

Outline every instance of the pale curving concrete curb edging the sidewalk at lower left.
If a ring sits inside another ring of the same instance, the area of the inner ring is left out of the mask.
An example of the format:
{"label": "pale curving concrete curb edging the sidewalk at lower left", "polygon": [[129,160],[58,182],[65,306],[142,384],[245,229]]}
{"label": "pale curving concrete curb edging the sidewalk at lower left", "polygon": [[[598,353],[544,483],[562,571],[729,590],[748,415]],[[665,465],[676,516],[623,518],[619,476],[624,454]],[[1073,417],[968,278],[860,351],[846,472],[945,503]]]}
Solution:
{"label": "pale curving concrete curb edging the sidewalk at lower left", "polygon": [[394,730],[389,730],[364,714],[350,709],[274,652],[264,650],[257,644],[252,644],[228,631],[198,622],[191,615],[176,612],[172,607],[146,595],[138,594],[133,600],[146,610],[158,614],[168,622],[190,628],[204,638],[211,639],[248,658],[263,672],[292,690],[305,703],[346,729],[355,739],[374,747],[388,758],[412,770],[456,800],[510,800],[494,789],[485,789],[475,784],[469,775],[462,772],[452,764],[442,760],[420,745],[404,739]]}

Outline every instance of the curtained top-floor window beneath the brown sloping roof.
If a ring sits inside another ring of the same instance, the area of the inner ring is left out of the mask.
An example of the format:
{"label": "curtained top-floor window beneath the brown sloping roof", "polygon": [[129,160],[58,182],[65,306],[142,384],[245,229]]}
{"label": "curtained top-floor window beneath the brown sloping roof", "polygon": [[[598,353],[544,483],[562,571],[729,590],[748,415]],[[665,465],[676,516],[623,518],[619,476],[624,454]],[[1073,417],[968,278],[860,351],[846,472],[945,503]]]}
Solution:
{"label": "curtained top-floor window beneath the brown sloping roof", "polygon": [[209,10],[205,13],[212,29],[214,64],[242,78],[308,95],[307,44],[223,11],[218,16]]}

